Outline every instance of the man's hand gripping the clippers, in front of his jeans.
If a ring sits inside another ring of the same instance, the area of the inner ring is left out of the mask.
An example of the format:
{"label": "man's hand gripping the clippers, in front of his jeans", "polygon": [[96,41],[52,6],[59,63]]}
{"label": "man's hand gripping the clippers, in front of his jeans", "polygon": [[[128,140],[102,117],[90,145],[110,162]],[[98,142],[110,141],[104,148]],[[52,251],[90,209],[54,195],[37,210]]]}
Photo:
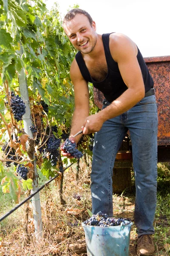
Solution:
{"label": "man's hand gripping the clippers, in front of his jeans", "polygon": [[95,115],[88,116],[85,119],[85,123],[82,126],[83,128],[83,134],[91,134],[96,131],[99,131],[102,128],[104,120],[102,120],[101,116],[99,113]]}

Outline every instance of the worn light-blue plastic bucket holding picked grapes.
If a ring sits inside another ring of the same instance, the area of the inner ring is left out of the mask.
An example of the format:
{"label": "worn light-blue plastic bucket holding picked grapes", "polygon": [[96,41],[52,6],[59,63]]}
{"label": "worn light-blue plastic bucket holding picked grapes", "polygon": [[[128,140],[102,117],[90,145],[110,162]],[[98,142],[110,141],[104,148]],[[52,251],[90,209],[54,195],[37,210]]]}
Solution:
{"label": "worn light-blue plastic bucket holding picked grapes", "polygon": [[[116,219],[116,218],[114,218]],[[86,226],[85,241],[88,256],[129,256],[130,230],[132,221],[125,219],[125,226]]]}

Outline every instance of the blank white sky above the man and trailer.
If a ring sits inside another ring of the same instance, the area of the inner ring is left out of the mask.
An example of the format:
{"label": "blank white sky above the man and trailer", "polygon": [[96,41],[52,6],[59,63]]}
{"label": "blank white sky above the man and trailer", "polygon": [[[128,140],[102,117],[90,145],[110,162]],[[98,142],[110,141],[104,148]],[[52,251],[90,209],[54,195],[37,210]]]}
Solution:
{"label": "blank white sky above the man and trailer", "polygon": [[78,4],[96,22],[98,34],[120,32],[130,37],[143,57],[170,55],[170,0],[43,0],[59,4],[61,17]]}

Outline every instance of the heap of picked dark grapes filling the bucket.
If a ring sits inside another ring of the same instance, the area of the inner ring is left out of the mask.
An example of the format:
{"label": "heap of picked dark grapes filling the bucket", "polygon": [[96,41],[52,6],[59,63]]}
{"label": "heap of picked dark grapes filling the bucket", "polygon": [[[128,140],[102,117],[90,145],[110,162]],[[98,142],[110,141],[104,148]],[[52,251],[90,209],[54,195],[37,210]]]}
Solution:
{"label": "heap of picked dark grapes filling the bucket", "polygon": [[106,213],[98,212],[96,215],[92,215],[91,218],[84,221],[83,223],[88,226],[98,226],[98,227],[112,227],[112,226],[125,226],[130,220],[123,218],[108,218]]}

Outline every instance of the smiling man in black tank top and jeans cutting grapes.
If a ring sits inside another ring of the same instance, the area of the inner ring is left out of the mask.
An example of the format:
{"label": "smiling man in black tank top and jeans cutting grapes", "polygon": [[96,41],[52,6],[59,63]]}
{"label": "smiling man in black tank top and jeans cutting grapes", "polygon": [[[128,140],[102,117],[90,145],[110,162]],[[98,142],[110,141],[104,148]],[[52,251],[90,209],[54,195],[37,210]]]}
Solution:
{"label": "smiling man in black tank top and jeans cutting grapes", "polygon": [[[112,176],[116,153],[127,130],[136,180],[134,222],[137,253],[152,255],[156,209],[157,108],[151,78],[136,44],[125,35],[96,33],[96,23],[81,9],[64,18],[64,30],[79,51],[71,64],[75,110],[71,136],[81,128],[95,134],[91,171],[92,212],[113,217]],[[89,116],[88,82],[105,96],[102,111]],[[81,135],[70,140],[78,143]],[[62,155],[70,157],[62,151]]]}

